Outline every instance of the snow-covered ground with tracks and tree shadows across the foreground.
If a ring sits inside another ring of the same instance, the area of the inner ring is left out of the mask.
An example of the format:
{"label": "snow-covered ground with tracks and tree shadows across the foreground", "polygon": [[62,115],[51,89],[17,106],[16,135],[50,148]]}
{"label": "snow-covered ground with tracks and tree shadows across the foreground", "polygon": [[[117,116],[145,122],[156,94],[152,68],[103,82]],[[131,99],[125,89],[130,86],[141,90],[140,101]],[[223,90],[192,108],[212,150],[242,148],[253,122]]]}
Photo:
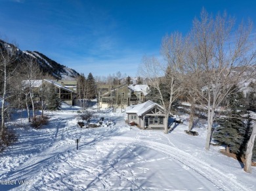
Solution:
{"label": "snow-covered ground with tracks and tree shadows across the foreground", "polygon": [[165,135],[130,128],[124,113],[95,113],[114,123],[91,129],[77,125],[77,108],[47,115],[40,130],[15,115],[18,142],[0,153],[0,190],[256,190],[256,167],[248,174],[220,147],[206,151],[205,128],[184,133],[187,116]]}

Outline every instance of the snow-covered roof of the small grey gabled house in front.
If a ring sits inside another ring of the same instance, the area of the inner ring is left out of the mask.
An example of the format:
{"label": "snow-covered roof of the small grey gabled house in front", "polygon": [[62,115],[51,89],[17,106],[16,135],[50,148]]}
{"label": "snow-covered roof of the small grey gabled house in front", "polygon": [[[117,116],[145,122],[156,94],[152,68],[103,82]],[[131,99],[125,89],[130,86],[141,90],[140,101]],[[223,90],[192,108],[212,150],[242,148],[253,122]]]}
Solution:
{"label": "snow-covered roof of the small grey gabled house in front", "polygon": [[154,107],[159,107],[160,109],[163,109],[158,103],[154,103],[153,101],[146,101],[144,103],[140,103],[138,105],[132,105],[130,107],[127,107],[127,114],[136,113],[138,116],[142,116],[144,113],[150,111]]}

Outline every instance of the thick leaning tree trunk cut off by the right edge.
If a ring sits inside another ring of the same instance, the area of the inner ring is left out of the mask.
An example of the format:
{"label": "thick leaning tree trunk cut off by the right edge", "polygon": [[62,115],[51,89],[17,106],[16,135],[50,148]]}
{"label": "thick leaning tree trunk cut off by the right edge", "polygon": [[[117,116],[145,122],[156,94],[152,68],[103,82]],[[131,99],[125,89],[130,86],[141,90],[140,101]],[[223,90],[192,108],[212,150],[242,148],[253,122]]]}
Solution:
{"label": "thick leaning tree trunk cut off by the right edge", "polygon": [[256,137],[256,124],[253,126],[253,131],[251,133],[251,137],[247,143],[247,149],[245,152],[245,165],[244,171],[247,173],[251,173],[251,158],[253,156],[253,146]]}

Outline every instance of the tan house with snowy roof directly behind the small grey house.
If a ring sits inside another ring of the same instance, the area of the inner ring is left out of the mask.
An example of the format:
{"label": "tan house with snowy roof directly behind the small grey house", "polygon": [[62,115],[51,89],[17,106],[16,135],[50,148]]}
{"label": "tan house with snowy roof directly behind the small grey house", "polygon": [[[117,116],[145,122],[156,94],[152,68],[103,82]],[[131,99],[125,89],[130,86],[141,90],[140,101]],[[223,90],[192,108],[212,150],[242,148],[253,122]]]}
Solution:
{"label": "tan house with snowy roof directly behind the small grey house", "polygon": [[124,109],[129,105],[143,103],[149,92],[148,85],[119,85],[98,87],[98,102],[101,109],[108,107]]}

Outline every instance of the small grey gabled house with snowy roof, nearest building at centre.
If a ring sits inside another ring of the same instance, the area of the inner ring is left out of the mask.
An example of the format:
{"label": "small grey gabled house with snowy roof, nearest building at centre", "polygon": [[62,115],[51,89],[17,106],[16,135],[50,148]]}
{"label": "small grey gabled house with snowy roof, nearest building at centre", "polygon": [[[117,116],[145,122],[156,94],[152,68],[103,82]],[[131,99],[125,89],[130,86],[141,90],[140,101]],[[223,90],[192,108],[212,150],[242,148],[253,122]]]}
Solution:
{"label": "small grey gabled house with snowy roof, nearest building at centre", "polygon": [[128,124],[135,122],[140,129],[163,130],[165,115],[163,107],[153,101],[127,107]]}

